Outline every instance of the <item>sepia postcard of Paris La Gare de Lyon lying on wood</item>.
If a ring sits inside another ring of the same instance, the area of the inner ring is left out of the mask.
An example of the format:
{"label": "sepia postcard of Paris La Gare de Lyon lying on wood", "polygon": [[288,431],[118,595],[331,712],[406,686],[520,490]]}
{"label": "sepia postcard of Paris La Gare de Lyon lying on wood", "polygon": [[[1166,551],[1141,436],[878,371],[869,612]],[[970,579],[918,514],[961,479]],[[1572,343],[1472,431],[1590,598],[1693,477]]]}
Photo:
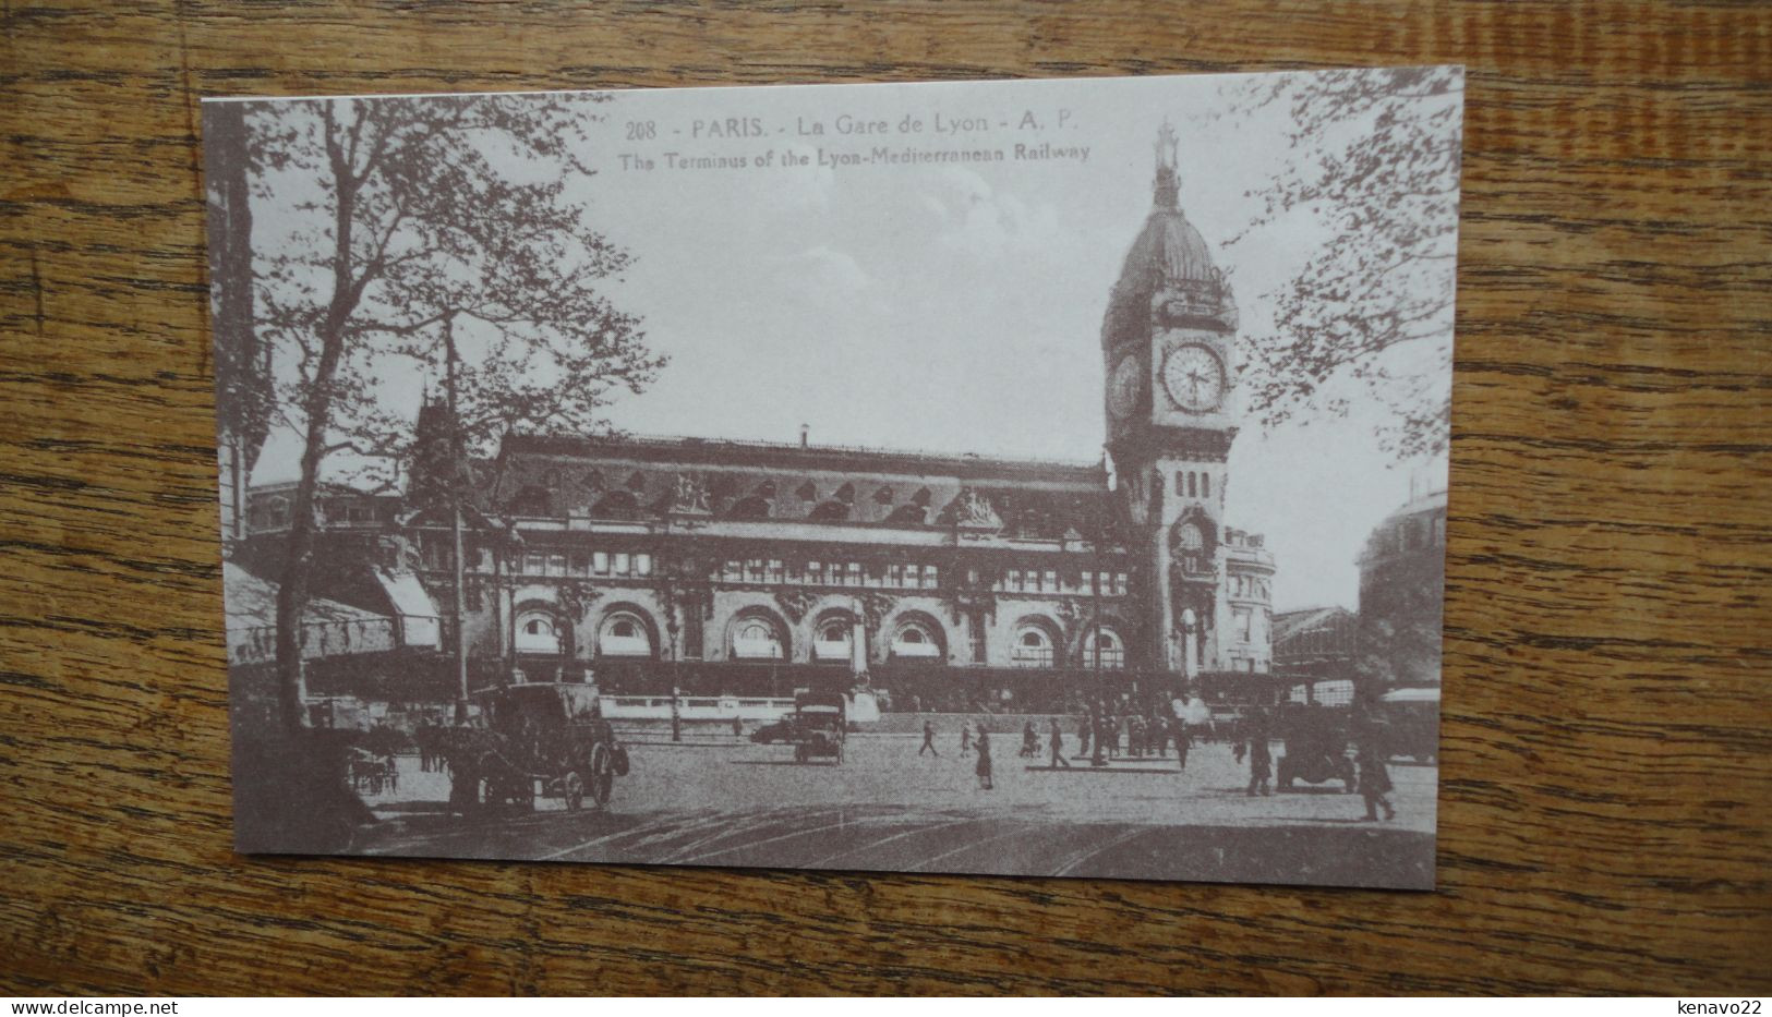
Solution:
{"label": "sepia postcard of Paris La Gare de Lyon lying on wood", "polygon": [[237,847],[1432,888],[1462,96],[207,101]]}

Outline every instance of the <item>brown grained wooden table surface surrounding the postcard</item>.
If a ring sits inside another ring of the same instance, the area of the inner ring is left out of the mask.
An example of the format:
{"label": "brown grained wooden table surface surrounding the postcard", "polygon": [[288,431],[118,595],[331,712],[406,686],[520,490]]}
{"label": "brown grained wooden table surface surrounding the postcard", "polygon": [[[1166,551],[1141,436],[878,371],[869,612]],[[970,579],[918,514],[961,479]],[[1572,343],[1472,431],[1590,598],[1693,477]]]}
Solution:
{"label": "brown grained wooden table surface surrounding the postcard", "polygon": [[[0,990],[1772,990],[1772,5],[0,11]],[[1425,62],[1437,893],[232,854],[200,96]]]}

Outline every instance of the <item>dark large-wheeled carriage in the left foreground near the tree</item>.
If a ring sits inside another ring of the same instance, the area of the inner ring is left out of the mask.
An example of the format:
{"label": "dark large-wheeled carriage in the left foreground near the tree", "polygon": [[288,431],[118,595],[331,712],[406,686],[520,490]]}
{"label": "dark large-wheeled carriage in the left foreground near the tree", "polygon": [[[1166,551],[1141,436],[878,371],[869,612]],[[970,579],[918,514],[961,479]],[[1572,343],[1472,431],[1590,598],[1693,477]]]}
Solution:
{"label": "dark large-wheeled carriage in the left foreground near the tree", "polygon": [[482,689],[473,696],[480,725],[452,728],[443,751],[450,769],[450,811],[480,804],[535,808],[558,797],[579,810],[588,797],[604,806],[615,778],[627,776],[627,749],[597,709],[595,686],[532,682]]}

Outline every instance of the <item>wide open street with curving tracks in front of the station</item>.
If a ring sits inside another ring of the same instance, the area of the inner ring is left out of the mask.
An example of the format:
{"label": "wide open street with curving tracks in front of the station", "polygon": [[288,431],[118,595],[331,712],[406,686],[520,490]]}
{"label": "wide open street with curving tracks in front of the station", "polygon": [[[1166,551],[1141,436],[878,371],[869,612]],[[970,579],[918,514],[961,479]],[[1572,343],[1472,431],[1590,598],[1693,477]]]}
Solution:
{"label": "wide open street with curving tracks in front of the station", "polygon": [[1196,746],[1185,771],[1173,753],[1051,771],[996,735],[992,790],[978,787],[976,755],[960,755],[957,735],[937,741],[939,758],[920,757],[916,735],[852,735],[842,765],[702,732],[627,744],[633,772],[604,810],[539,799],[533,813],[473,820],[445,819],[448,778],[402,758],[399,794],[369,797],[385,822],[358,850],[1432,886],[1437,769],[1426,765],[1391,765],[1398,815],[1373,824],[1340,781],[1249,797],[1247,765],[1226,744]]}

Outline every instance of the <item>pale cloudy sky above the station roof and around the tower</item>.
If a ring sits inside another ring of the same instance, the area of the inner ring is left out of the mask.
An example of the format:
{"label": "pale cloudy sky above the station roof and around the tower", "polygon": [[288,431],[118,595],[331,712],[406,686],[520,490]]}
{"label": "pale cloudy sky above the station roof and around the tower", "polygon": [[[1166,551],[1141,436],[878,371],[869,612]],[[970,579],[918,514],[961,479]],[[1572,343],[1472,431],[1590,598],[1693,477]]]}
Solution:
{"label": "pale cloudy sky above the station roof and around the tower", "polygon": [[[1097,461],[1102,314],[1152,207],[1164,120],[1178,135],[1182,209],[1230,275],[1244,333],[1269,314],[1263,294],[1327,237],[1295,214],[1224,248],[1258,211],[1246,191],[1278,170],[1290,126],[1283,110],[1216,119],[1228,82],[615,94],[581,152],[597,174],[574,182],[574,197],[633,255],[604,292],[643,319],[670,365],[611,409],[613,423],[769,441],[797,441],[804,423],[815,445]],[[808,133],[813,124],[824,133]],[[1015,159],[1017,144],[1069,158]],[[1010,158],[820,165],[875,145]],[[785,165],[789,152],[806,163]],[[666,154],[746,165],[673,168]],[[255,209],[255,243],[298,220],[299,188],[287,190],[282,207]],[[1449,384],[1449,363],[1430,367]],[[404,376],[388,400],[416,411],[420,388]],[[1395,466],[1364,413],[1271,432],[1251,422],[1232,448],[1226,524],[1267,535],[1276,609],[1357,606],[1354,556],[1372,526],[1412,478],[1444,484],[1444,459]],[[292,477],[294,462],[294,443],[276,436],[253,480]]]}

